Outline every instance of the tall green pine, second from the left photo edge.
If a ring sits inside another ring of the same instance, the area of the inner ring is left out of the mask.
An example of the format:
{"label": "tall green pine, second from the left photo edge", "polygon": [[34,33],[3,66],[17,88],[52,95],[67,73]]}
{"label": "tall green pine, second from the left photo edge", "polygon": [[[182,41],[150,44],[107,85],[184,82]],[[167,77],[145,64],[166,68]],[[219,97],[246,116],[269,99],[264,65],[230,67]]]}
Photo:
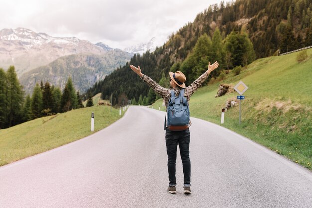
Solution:
{"label": "tall green pine, second from the left photo edge", "polygon": [[15,72],[15,67],[10,66],[6,72],[7,76],[7,118],[8,125],[11,127],[12,125],[20,123],[18,121],[18,117],[20,116],[20,109],[23,103],[23,91],[22,86],[20,85],[17,74]]}

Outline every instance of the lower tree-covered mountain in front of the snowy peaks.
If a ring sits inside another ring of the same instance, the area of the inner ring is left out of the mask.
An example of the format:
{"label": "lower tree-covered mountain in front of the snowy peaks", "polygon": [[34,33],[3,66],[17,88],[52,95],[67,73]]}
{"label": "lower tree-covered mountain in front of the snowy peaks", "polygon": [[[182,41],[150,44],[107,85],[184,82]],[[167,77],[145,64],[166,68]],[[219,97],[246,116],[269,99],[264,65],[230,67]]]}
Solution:
{"label": "lower tree-covered mountain in front of the snowy peaks", "polygon": [[36,83],[40,83],[41,80],[63,89],[68,77],[72,78],[76,90],[85,92],[114,69],[124,65],[130,57],[129,53],[118,49],[102,55],[80,53],[63,56],[46,66],[25,72],[19,80],[27,94],[31,94]]}

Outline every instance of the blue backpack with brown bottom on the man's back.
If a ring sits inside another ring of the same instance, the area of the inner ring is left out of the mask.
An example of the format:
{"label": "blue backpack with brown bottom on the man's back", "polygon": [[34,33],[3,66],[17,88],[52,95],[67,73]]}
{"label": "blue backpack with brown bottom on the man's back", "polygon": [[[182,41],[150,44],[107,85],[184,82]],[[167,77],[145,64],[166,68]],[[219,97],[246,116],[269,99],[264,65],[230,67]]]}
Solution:
{"label": "blue backpack with brown bottom on the man's back", "polygon": [[171,131],[183,131],[188,128],[189,123],[189,106],[187,99],[184,97],[184,89],[180,91],[180,96],[175,97],[171,90],[171,98],[168,103],[168,125]]}

